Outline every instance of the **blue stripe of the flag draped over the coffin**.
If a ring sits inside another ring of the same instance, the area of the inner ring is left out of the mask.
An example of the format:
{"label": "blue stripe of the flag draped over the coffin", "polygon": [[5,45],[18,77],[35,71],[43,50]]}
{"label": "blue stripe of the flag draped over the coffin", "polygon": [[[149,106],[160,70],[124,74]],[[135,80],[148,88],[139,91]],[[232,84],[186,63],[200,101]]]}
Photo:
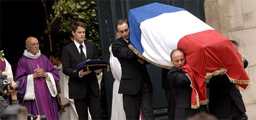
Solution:
{"label": "blue stripe of the flag draped over the coffin", "polygon": [[[142,31],[140,30],[140,23],[146,19],[159,16],[163,13],[177,12],[185,9],[177,8],[171,5],[160,3],[151,3],[148,5],[140,6],[129,11],[129,24],[130,24],[130,40],[132,45],[142,54],[144,52],[140,38]],[[157,23],[156,23],[157,24]]]}

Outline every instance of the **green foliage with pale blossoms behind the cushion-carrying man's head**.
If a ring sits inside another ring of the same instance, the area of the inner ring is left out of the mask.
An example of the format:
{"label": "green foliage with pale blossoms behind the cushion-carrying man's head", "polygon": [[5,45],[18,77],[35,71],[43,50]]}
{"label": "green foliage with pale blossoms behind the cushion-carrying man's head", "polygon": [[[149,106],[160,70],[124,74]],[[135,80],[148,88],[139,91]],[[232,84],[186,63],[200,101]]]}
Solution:
{"label": "green foliage with pale blossoms behind the cushion-carrying man's head", "polygon": [[62,40],[56,43],[57,46],[71,42],[69,36],[71,34],[70,26],[73,22],[79,21],[86,24],[86,41],[96,43],[98,53],[100,53],[96,0],[83,2],[74,2],[73,0],[56,1],[52,9],[53,13],[50,15],[50,22],[47,23],[48,29],[45,30],[45,34],[64,36],[63,38],[60,37]]}

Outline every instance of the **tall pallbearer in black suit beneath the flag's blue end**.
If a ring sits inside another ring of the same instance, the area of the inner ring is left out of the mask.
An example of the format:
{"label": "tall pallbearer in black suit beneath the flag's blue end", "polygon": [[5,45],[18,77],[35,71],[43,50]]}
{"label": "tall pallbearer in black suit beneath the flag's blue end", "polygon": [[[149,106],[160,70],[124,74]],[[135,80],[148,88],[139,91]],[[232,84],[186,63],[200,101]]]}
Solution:
{"label": "tall pallbearer in black suit beneath the flag's blue end", "polygon": [[128,47],[130,31],[127,20],[119,19],[116,27],[121,37],[112,44],[112,53],[122,68],[118,93],[123,94],[126,119],[139,119],[140,108],[144,119],[154,119],[153,88],[145,61],[138,58]]}

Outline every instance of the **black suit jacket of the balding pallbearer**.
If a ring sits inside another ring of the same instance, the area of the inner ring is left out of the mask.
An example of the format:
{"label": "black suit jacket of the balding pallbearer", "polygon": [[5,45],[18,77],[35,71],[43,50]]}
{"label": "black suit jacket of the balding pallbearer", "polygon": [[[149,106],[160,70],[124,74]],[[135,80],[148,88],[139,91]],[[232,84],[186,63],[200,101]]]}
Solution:
{"label": "black suit jacket of the balding pallbearer", "polygon": [[173,90],[177,108],[191,108],[190,80],[181,69],[172,67],[167,74],[167,81]]}

